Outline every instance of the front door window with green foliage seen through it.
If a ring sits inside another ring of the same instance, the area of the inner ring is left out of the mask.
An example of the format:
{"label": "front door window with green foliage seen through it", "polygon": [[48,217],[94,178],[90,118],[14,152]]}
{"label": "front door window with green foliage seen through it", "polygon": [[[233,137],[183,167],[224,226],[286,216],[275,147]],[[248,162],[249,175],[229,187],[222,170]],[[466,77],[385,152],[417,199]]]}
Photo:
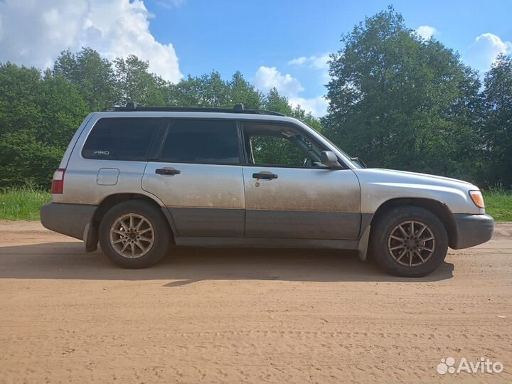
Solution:
{"label": "front door window with green foliage seen through it", "polygon": [[301,132],[285,125],[245,124],[249,163],[267,166],[323,166],[322,149]]}

